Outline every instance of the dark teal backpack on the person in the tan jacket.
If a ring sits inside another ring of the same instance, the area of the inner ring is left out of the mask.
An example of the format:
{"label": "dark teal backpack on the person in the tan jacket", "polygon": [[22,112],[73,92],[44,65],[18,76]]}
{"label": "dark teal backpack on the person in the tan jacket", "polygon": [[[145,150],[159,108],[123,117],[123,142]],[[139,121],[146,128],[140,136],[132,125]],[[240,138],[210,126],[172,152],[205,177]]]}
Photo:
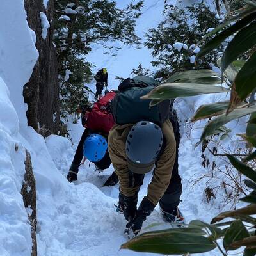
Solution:
{"label": "dark teal backpack on the person in the tan jacket", "polygon": [[157,86],[156,80],[148,76],[127,78],[118,86],[118,93],[111,101],[111,111],[116,124],[134,124],[141,120],[162,124],[170,115],[170,100],[149,107],[150,100],[142,100]]}

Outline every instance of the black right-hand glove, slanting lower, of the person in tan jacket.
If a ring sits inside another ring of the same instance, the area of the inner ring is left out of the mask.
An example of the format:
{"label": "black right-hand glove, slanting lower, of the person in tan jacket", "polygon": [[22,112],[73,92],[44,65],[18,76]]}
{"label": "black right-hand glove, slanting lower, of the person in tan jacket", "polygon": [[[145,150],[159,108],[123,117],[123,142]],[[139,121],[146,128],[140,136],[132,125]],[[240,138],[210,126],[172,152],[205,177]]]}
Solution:
{"label": "black right-hand glove, slanting lower, of the person in tan jacket", "polygon": [[152,204],[147,197],[144,197],[136,212],[136,217],[127,223],[126,228],[128,230],[132,229],[133,234],[136,236],[140,232],[142,224],[147,216],[154,210],[154,207],[155,205]]}

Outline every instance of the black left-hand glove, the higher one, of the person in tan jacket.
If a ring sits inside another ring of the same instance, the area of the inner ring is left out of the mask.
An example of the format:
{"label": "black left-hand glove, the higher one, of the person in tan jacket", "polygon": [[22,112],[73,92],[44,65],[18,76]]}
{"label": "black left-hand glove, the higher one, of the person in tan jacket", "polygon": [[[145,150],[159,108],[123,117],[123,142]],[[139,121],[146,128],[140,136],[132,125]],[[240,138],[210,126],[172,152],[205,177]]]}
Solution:
{"label": "black left-hand glove, the higher one, of the person in tan jacket", "polygon": [[119,193],[119,205],[123,210],[124,218],[127,221],[131,221],[136,215],[138,197],[134,196],[124,196]]}

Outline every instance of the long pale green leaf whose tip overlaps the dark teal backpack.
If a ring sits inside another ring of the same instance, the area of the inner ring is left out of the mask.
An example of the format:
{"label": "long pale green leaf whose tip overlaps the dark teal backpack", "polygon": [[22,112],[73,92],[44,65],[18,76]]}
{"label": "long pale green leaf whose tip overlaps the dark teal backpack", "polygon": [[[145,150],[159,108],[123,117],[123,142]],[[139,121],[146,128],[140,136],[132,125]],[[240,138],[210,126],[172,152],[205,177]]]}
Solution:
{"label": "long pale green leaf whose tip overlaps the dark teal backpack", "polygon": [[164,100],[220,92],[227,92],[227,89],[207,84],[171,83],[154,88],[141,99]]}

